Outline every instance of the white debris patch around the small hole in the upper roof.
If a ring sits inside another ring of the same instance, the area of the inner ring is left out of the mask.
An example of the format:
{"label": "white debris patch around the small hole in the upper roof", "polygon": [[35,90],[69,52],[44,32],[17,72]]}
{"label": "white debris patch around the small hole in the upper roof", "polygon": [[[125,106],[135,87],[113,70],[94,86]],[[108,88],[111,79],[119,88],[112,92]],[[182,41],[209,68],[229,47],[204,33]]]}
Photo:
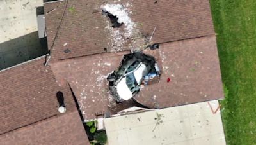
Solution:
{"label": "white debris patch around the small hole in the upper roof", "polygon": [[[109,34],[110,52],[119,52],[129,48],[131,52],[140,51],[148,46],[148,39],[138,30],[136,24],[129,17],[132,14],[132,4],[105,4],[100,8],[103,15],[109,17],[106,23],[106,32]],[[128,45],[129,44],[129,45]]]}

